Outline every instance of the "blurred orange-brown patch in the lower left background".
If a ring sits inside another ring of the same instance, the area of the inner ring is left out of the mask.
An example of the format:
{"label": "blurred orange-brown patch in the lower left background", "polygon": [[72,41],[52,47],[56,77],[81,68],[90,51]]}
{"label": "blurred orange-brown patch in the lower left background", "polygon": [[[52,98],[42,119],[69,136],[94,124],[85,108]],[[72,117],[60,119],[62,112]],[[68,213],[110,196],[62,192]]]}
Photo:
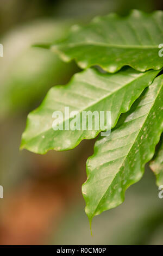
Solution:
{"label": "blurred orange-brown patch in the lower left background", "polygon": [[[48,170],[42,169],[43,172]],[[67,208],[77,200],[81,185],[79,177],[78,180],[55,179],[55,176],[53,180],[47,176],[24,180],[12,193],[5,195],[1,244],[43,244],[47,235],[57,230]]]}

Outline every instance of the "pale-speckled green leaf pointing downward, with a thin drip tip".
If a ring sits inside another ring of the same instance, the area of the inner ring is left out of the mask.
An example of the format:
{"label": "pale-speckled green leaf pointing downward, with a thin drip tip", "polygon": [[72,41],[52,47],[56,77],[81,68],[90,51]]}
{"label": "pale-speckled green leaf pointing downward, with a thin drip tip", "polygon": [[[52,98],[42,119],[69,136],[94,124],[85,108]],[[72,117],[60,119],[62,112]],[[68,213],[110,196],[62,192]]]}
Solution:
{"label": "pale-speckled green leaf pointing downward, with a thin drip tip", "polygon": [[152,159],[162,130],[163,75],[121,115],[111,135],[95,143],[83,185],[90,222],[93,216],[123,202],[126,189],[141,179],[145,164]]}

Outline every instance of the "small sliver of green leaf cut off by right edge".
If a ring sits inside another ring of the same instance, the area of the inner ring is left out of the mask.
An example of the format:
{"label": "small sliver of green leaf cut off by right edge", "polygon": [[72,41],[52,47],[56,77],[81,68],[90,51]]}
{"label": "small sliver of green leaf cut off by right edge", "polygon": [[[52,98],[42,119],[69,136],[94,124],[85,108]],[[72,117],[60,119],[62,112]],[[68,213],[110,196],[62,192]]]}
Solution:
{"label": "small sliver of green leaf cut off by right edge", "polygon": [[149,167],[153,170],[156,176],[156,185],[163,185],[163,136],[154,159],[149,163]]}

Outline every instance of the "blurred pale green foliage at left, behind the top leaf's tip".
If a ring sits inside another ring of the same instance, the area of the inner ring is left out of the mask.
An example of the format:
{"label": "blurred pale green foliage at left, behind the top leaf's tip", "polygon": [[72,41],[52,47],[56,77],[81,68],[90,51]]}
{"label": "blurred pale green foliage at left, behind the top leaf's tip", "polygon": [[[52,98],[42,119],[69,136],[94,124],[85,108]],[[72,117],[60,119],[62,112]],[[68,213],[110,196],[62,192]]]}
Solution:
{"label": "blurred pale green foliage at left, behind the top leaf's tip", "polygon": [[55,54],[32,47],[40,40],[60,39],[70,23],[52,19],[33,21],[1,40],[4,57],[0,62],[0,117],[36,106],[49,87],[65,83],[77,70],[74,63],[65,64]]}

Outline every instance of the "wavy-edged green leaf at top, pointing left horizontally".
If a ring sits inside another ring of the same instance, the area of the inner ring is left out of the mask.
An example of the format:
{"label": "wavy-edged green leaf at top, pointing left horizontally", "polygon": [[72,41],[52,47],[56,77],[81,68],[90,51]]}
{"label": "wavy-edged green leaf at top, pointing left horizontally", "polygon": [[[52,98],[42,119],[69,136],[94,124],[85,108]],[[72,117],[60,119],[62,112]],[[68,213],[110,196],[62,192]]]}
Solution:
{"label": "wavy-edged green leaf at top, pointing left horizontally", "polygon": [[73,26],[66,40],[51,46],[62,60],[75,59],[85,69],[99,65],[108,72],[122,66],[145,71],[163,66],[159,45],[163,41],[163,12],[133,10],[128,17],[109,14],[87,26]]}

